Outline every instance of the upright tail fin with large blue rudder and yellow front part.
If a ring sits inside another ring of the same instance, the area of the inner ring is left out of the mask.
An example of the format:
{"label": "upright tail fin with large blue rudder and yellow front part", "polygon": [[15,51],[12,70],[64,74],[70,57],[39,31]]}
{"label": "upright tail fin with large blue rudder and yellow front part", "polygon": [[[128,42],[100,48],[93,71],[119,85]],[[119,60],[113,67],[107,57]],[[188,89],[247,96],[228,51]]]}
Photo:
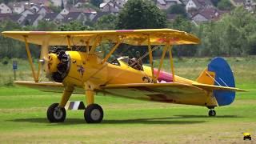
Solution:
{"label": "upright tail fin with large blue rudder and yellow front part", "polygon": [[[232,70],[226,60],[220,57],[214,58],[208,64],[206,70],[198,77],[197,82],[206,85],[235,87]],[[213,90],[213,94],[218,106],[230,105],[235,98],[234,90]]]}

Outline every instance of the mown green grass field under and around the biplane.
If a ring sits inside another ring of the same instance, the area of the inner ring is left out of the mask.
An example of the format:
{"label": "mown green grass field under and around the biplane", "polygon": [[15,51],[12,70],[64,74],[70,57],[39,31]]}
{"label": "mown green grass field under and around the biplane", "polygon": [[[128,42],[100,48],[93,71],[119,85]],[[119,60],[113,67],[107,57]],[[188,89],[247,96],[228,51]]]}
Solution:
{"label": "mown green grass field under and around the biplane", "polygon": [[[49,123],[46,110],[61,94],[42,93],[7,86],[12,79],[11,65],[0,66],[0,143],[254,143],[256,138],[256,58],[227,58],[239,88],[231,106],[217,107],[217,116],[208,117],[201,106],[142,102],[98,95],[104,109],[101,124],[87,124],[83,111],[67,111],[66,122]],[[175,59],[178,75],[197,78],[210,58]],[[157,62],[155,62],[157,65]],[[1,64],[2,65],[2,64]],[[169,67],[165,63],[165,69]],[[9,69],[10,68],[10,69]],[[18,73],[30,75],[26,62]],[[20,71],[23,70],[23,71]],[[84,100],[74,94],[71,100]],[[243,141],[242,132],[253,140]]]}

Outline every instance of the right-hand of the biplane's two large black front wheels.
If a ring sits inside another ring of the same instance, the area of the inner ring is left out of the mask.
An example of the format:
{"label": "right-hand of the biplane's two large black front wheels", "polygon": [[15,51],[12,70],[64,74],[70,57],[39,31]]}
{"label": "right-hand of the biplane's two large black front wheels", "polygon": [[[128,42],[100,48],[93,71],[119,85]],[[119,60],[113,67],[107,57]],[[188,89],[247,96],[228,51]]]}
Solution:
{"label": "right-hand of the biplane's two large black front wheels", "polygon": [[86,107],[84,117],[87,123],[99,123],[103,119],[102,107],[98,104],[90,104]]}

